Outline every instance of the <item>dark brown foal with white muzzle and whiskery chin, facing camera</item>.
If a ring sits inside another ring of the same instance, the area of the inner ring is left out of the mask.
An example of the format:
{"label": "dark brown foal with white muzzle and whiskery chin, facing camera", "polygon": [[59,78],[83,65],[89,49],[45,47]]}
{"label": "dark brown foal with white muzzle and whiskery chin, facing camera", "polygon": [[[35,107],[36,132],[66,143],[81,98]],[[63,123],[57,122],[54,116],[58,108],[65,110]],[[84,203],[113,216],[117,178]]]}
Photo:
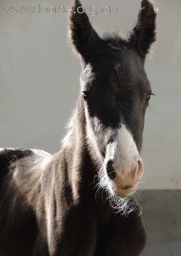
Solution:
{"label": "dark brown foal with white muzzle and whiskery chin, facing camera", "polygon": [[143,175],[156,12],[142,0],[127,37],[100,37],[80,6],[69,16],[80,93],[61,151],[0,151],[1,256],[136,256],[146,243],[132,194]]}

